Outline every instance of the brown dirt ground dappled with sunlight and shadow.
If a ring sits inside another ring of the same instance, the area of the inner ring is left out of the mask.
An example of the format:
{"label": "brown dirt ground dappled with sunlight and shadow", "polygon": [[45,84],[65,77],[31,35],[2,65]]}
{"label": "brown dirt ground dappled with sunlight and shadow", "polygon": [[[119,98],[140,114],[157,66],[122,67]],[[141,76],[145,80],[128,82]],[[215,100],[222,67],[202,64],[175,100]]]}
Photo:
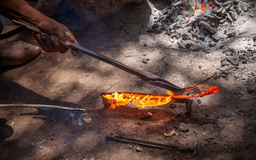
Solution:
{"label": "brown dirt ground dappled with sunlight and shadow", "polygon": [[[256,17],[239,16],[234,23],[243,34],[218,42],[209,48],[204,43],[194,47],[199,52],[178,48],[164,33],[149,34],[146,29],[168,1],[144,1],[123,8],[116,15],[88,23],[74,17],[65,21],[81,46],[104,54],[125,65],[153,73],[182,87],[200,82],[221,69],[220,57],[225,48],[244,49],[256,36]],[[56,14],[58,16],[58,14]],[[58,17],[60,20],[61,18]],[[243,21],[245,19],[245,21]],[[242,38],[248,41],[242,41]],[[37,45],[25,30],[1,40],[13,39]],[[252,47],[252,45],[251,45]],[[209,50],[205,53],[202,49]],[[256,48],[254,48],[256,49]],[[143,63],[147,59],[148,63]],[[199,66],[202,66],[199,69]],[[255,63],[240,64],[255,69]],[[103,92],[139,92],[166,94],[165,89],[152,86],[129,73],[95,58],[81,54],[42,52],[24,65],[0,69],[0,104],[45,104],[83,108],[92,118],[90,123],[79,119],[85,112],[37,110],[34,108],[0,109],[0,159],[255,159],[255,120],[241,110],[255,109],[255,95],[248,94],[241,81],[230,78],[210,79],[202,84],[218,86],[220,93],[195,98],[191,114],[184,104],[137,108],[132,105],[109,110],[104,106]],[[206,74],[202,74],[202,73]],[[234,94],[244,90],[245,95]],[[199,104],[198,100],[201,100]],[[181,115],[174,115],[181,111]],[[140,119],[138,113],[153,116]],[[49,120],[52,119],[52,120]],[[49,120],[49,121],[45,121]],[[59,120],[59,123],[57,124]],[[164,137],[175,122],[178,135]],[[52,136],[56,126],[55,134]],[[168,149],[106,141],[106,135],[125,136],[180,148],[198,141],[198,155]]]}

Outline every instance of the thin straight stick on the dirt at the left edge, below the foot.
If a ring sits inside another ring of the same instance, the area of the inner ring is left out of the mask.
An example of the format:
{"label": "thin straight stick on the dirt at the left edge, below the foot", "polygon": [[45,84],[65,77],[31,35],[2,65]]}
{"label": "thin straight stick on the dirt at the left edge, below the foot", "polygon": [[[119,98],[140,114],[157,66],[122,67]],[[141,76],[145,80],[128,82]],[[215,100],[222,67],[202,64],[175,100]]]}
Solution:
{"label": "thin straight stick on the dirt at the left edge, below the foot", "polygon": [[61,106],[51,106],[51,105],[26,105],[26,104],[7,104],[7,105],[0,105],[0,108],[4,107],[27,107],[27,108],[56,108],[56,109],[63,109],[69,111],[85,111],[85,109],[81,108],[68,108],[68,107],[61,107]]}

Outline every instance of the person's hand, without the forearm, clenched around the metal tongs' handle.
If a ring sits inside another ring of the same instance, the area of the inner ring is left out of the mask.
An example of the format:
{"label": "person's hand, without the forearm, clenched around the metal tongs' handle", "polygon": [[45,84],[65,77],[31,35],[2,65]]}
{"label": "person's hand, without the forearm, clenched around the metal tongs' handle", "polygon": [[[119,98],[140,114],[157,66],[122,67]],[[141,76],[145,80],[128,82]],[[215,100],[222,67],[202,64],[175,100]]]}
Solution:
{"label": "person's hand, without the forearm, clenched around the metal tongs' handle", "polygon": [[[46,52],[66,53],[71,47],[71,42],[79,45],[71,31],[63,24],[49,18],[39,22],[36,27],[42,30],[43,34],[33,33],[38,44]],[[52,36],[49,36],[52,35]],[[72,50],[73,55],[79,55],[79,51]]]}

